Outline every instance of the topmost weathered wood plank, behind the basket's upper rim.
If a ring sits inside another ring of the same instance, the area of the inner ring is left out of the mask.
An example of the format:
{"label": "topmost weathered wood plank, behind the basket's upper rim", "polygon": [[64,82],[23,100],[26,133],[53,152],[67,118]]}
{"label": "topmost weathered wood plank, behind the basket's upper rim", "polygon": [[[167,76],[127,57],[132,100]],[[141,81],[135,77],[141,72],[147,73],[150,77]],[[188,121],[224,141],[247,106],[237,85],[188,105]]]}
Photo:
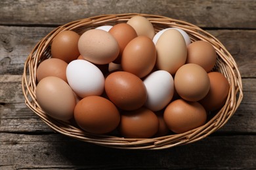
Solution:
{"label": "topmost weathered wood plank, behind the basket's upper rim", "polygon": [[[241,8],[242,6],[242,8]],[[62,25],[100,14],[139,12],[184,20],[200,27],[255,29],[254,0],[84,0],[84,1],[0,1],[0,24]],[[221,20],[220,20],[221,18]]]}

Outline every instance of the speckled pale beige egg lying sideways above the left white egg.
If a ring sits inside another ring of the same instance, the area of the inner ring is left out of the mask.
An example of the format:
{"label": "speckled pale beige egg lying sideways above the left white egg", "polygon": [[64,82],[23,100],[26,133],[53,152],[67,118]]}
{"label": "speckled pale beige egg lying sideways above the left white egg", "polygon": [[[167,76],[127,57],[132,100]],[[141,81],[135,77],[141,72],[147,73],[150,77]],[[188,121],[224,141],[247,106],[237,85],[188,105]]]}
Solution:
{"label": "speckled pale beige egg lying sideways above the left white egg", "polygon": [[119,54],[116,39],[102,29],[90,29],[81,35],[78,49],[84,59],[95,64],[107,64]]}

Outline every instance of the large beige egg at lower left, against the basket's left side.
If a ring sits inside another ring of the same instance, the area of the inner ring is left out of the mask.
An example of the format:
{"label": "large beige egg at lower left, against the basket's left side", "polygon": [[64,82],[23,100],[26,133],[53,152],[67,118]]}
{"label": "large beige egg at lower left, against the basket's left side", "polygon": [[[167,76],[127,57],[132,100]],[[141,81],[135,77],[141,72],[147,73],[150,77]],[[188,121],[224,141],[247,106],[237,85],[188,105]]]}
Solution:
{"label": "large beige egg at lower left, against the basket's left side", "polygon": [[75,95],[70,86],[56,76],[43,78],[35,90],[37,103],[49,116],[57,120],[73,118]]}

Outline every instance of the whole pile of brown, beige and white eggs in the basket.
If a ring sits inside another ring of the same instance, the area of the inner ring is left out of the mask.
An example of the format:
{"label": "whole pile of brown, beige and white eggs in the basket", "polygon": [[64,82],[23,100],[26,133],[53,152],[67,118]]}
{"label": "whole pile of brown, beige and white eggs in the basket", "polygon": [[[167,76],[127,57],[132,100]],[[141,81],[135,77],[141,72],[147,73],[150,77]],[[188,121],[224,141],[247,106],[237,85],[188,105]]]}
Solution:
{"label": "whole pile of brown, beige and white eggs in the basket", "polygon": [[37,67],[37,102],[49,116],[89,133],[184,133],[223,107],[230,88],[213,71],[217,54],[209,42],[191,42],[174,27],[155,33],[143,16],[82,35],[60,31],[51,56]]}

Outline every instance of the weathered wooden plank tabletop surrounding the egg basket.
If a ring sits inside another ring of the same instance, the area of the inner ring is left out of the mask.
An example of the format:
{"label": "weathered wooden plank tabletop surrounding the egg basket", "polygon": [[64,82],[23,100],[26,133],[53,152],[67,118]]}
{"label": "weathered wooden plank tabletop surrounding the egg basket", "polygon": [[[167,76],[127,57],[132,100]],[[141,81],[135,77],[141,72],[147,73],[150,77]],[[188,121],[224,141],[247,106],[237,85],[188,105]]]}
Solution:
{"label": "weathered wooden plank tabletop surrounding the egg basket", "polygon": [[[140,12],[198,25],[232,54],[244,99],[228,123],[196,143],[119,150],[55,133],[24,105],[21,79],[33,46],[58,25]],[[0,1],[0,169],[256,169],[256,1]]]}

